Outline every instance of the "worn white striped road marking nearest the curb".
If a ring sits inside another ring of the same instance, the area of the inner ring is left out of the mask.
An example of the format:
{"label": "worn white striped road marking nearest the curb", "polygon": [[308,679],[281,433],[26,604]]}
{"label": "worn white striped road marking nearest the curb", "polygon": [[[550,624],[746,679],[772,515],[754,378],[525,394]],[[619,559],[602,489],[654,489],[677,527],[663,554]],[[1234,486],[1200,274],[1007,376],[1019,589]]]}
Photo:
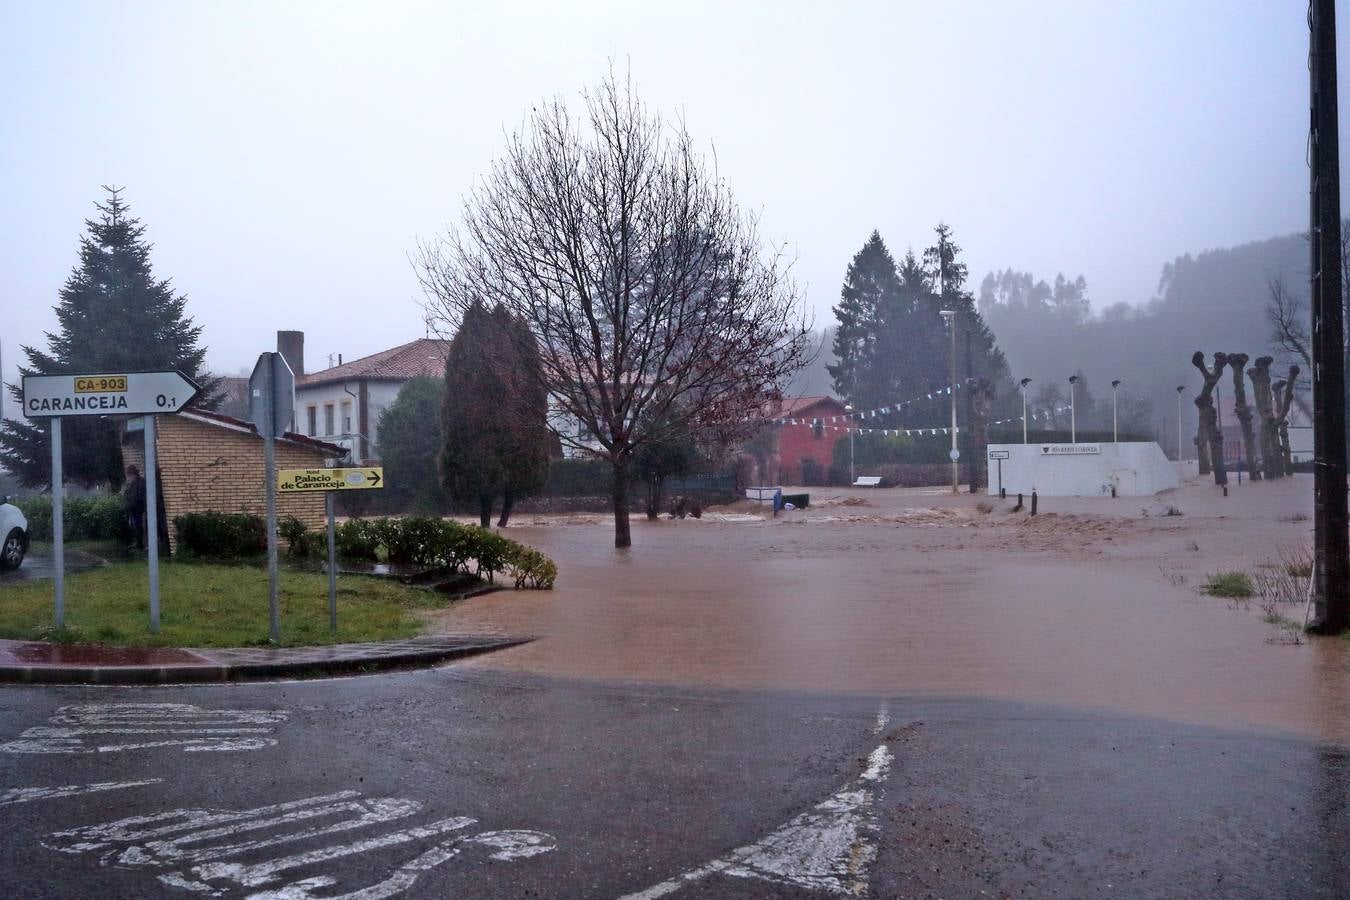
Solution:
{"label": "worn white striped road marking nearest the curb", "polygon": [[[278,710],[202,710],[188,703],[88,703],[63,706],[49,725],[0,743],[3,753],[122,753],[181,748],[185,753],[261,750],[285,722]],[[132,739],[135,735],[139,739]]]}

